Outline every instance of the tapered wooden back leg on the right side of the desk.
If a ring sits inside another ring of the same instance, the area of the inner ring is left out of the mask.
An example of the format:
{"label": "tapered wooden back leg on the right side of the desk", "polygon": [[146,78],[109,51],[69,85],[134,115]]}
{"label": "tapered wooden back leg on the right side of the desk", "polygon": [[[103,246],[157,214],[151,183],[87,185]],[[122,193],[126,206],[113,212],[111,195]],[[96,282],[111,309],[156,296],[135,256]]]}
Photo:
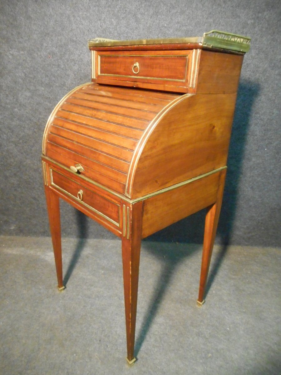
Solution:
{"label": "tapered wooden back leg on the right side of the desk", "polygon": [[203,242],[203,254],[202,254],[202,264],[201,264],[201,275],[200,275],[200,286],[199,286],[199,296],[197,300],[197,305],[202,306],[205,302],[204,294],[206,281],[208,278],[208,272],[211,262],[212,251],[215,242],[215,236],[217,233],[218,219],[220,217],[221,202],[223,200],[223,189],[226,177],[226,169],[220,172],[220,180],[217,192],[217,201],[215,204],[207,208],[206,219],[205,219],[205,233]]}

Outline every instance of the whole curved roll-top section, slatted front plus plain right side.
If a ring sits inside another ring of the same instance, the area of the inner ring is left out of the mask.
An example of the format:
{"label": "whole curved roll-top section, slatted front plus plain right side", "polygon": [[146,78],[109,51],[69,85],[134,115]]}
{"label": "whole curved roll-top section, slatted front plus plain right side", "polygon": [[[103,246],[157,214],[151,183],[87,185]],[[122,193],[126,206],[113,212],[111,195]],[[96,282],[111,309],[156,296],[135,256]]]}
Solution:
{"label": "whole curved roll-top section, slatted front plus plain right side", "polygon": [[85,84],[50,116],[43,155],[139,198],[226,164],[235,98]]}

